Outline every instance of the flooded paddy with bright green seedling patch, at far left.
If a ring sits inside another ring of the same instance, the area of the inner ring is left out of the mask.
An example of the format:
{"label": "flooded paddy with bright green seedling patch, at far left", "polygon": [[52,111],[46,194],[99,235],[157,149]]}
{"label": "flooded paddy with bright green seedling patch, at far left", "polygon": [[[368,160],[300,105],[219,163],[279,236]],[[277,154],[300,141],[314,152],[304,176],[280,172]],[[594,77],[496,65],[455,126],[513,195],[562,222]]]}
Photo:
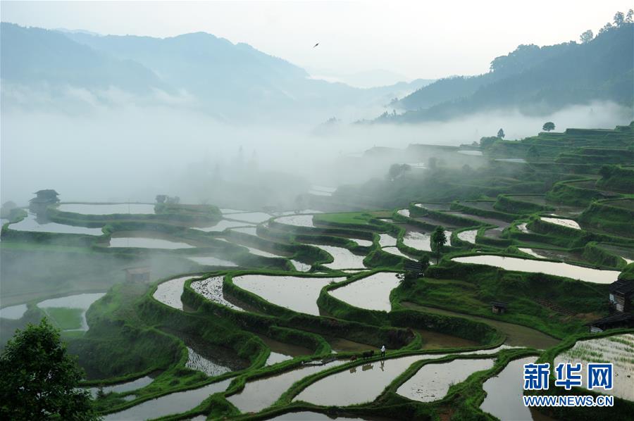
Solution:
{"label": "flooded paddy with bright green seedling patch, at far left", "polygon": [[[37,303],[46,315],[62,330],[88,330],[86,312],[92,303],[106,295],[104,292],[75,294]],[[70,311],[69,311],[70,310]]]}

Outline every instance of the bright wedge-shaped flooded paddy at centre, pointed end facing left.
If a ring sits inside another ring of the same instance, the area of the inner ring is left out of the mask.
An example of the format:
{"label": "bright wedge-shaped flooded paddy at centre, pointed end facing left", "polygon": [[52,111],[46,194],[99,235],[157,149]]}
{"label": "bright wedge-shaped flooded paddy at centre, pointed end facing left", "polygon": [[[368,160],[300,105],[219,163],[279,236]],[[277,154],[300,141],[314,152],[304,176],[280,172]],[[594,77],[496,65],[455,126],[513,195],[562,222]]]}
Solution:
{"label": "bright wedge-shaped flooded paddy at centre, pointed end facing left", "polygon": [[328,291],[328,294],[351,306],[368,310],[392,310],[390,291],[399,286],[394,272],[378,272],[344,287]]}

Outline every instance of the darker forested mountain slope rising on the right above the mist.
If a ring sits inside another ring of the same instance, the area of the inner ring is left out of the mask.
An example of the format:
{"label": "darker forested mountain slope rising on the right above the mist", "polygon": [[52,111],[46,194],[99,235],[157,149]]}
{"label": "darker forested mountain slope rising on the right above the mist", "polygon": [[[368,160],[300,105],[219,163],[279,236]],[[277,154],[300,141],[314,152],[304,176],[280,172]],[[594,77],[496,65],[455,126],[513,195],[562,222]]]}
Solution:
{"label": "darker forested mountain slope rising on the right above the mist", "polygon": [[392,104],[406,112],[379,121],[417,122],[515,107],[549,113],[567,105],[634,101],[634,24],[604,30],[583,44],[521,45],[491,62],[490,72],[437,80]]}

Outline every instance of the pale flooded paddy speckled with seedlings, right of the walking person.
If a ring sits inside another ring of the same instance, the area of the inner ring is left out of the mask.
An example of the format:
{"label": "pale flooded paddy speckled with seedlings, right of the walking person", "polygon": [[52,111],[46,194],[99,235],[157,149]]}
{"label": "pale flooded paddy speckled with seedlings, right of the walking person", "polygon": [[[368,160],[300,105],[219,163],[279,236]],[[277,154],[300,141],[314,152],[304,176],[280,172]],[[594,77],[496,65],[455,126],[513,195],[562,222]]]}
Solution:
{"label": "pale flooded paddy speckled with seedlings, right of the walking person", "polygon": [[488,370],[495,360],[453,360],[427,364],[397,389],[397,394],[414,401],[432,402],[442,399],[452,384],[464,382],[474,372]]}

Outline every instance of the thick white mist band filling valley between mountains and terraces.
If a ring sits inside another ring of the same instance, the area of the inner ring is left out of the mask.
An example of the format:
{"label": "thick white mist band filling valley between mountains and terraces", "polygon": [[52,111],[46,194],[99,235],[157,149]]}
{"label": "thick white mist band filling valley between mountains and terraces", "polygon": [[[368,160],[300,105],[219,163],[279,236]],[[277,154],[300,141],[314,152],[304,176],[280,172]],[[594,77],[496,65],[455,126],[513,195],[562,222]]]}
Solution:
{"label": "thick white mist band filling valley between mountains and terraces", "polygon": [[238,126],[183,106],[123,103],[120,96],[116,108],[94,106],[78,115],[12,108],[4,111],[1,126],[1,200],[24,205],[33,191],[53,188],[63,201],[151,202],[164,193],[188,203],[214,203],[204,182],[194,181],[205,174],[209,183],[214,177],[257,180],[273,191],[291,184],[275,174],[292,175],[299,183],[288,192],[292,196],[310,184],[337,187],[382,177],[390,157],[378,165],[347,165],[347,157],[374,146],[458,146],[495,135],[500,127],[506,139],[521,139],[540,132],[545,121],[565,130],[613,128],[632,118],[630,109],[611,102],[543,116],[506,110],[418,125],[337,122],[328,127],[312,122]]}

